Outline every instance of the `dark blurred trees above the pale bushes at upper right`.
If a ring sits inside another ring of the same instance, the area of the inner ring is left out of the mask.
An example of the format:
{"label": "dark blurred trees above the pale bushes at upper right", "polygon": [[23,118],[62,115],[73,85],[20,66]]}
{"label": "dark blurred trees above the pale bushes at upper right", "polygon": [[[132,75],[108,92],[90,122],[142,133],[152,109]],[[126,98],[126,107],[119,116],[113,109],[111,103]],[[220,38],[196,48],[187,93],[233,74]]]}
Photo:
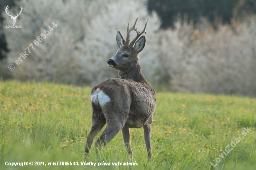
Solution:
{"label": "dark blurred trees above the pale bushes at upper right", "polygon": [[155,10],[161,17],[162,28],[174,26],[177,16],[184,14],[196,23],[201,17],[213,23],[216,16],[230,23],[234,15],[256,13],[256,0],[148,0],[147,5],[149,12]]}

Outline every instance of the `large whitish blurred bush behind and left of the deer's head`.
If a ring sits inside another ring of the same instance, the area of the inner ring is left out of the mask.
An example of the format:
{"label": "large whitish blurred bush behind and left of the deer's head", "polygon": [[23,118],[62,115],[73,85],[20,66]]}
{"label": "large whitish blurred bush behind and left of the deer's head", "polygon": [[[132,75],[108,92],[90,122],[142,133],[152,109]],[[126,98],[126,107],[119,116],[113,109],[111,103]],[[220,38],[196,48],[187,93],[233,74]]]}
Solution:
{"label": "large whitish blurred bush behind and left of the deer's head", "polygon": [[[20,80],[95,85],[108,78],[117,78],[117,72],[106,64],[118,49],[116,31],[120,30],[126,36],[129,20],[132,23],[139,17],[140,30],[150,18],[148,47],[141,53],[143,58],[150,50],[150,44],[154,44],[154,35],[160,25],[156,15],[148,15],[144,2],[135,0],[21,0],[20,5],[23,12],[16,25],[22,25],[22,29],[4,30],[11,51],[8,53],[10,64],[44,29],[48,29],[48,25],[52,26],[52,21],[58,25],[39,46],[34,45],[34,51],[30,47],[29,57],[17,65],[13,76]],[[8,16],[6,19],[5,24],[9,22]]]}

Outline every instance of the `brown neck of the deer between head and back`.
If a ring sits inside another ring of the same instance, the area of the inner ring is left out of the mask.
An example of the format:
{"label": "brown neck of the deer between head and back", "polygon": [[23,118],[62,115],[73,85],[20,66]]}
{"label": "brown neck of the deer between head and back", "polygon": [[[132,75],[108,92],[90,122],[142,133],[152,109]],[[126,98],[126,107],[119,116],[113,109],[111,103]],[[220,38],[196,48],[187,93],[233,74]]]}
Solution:
{"label": "brown neck of the deer between head and back", "polygon": [[138,83],[147,81],[141,72],[141,65],[139,64],[138,60],[135,61],[129,70],[119,71],[118,75],[121,79],[130,79]]}

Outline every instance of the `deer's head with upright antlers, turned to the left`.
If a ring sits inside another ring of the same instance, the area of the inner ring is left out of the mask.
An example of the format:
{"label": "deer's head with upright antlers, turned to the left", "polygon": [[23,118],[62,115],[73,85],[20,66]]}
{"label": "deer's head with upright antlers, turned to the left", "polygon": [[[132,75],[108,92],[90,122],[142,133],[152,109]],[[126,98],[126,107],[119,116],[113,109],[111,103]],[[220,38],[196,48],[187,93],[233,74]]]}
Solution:
{"label": "deer's head with upright antlers, turned to the left", "polygon": [[[143,50],[146,43],[145,36],[141,36],[141,34],[146,33],[145,29],[148,23],[147,20],[143,31],[140,33],[138,32],[138,28],[135,29],[137,20],[138,18],[136,19],[134,26],[132,26],[130,29],[128,23],[126,40],[122,37],[120,31],[116,32],[117,46],[120,49],[116,52],[114,57],[108,59],[107,64],[109,67],[113,67],[121,72],[129,72],[135,67],[135,63],[137,63],[136,61],[138,61],[138,54]],[[131,43],[129,43],[131,31],[136,31],[137,36],[135,37],[135,39],[132,40]],[[138,39],[139,37],[140,39]],[[135,46],[133,47],[134,43]]]}

